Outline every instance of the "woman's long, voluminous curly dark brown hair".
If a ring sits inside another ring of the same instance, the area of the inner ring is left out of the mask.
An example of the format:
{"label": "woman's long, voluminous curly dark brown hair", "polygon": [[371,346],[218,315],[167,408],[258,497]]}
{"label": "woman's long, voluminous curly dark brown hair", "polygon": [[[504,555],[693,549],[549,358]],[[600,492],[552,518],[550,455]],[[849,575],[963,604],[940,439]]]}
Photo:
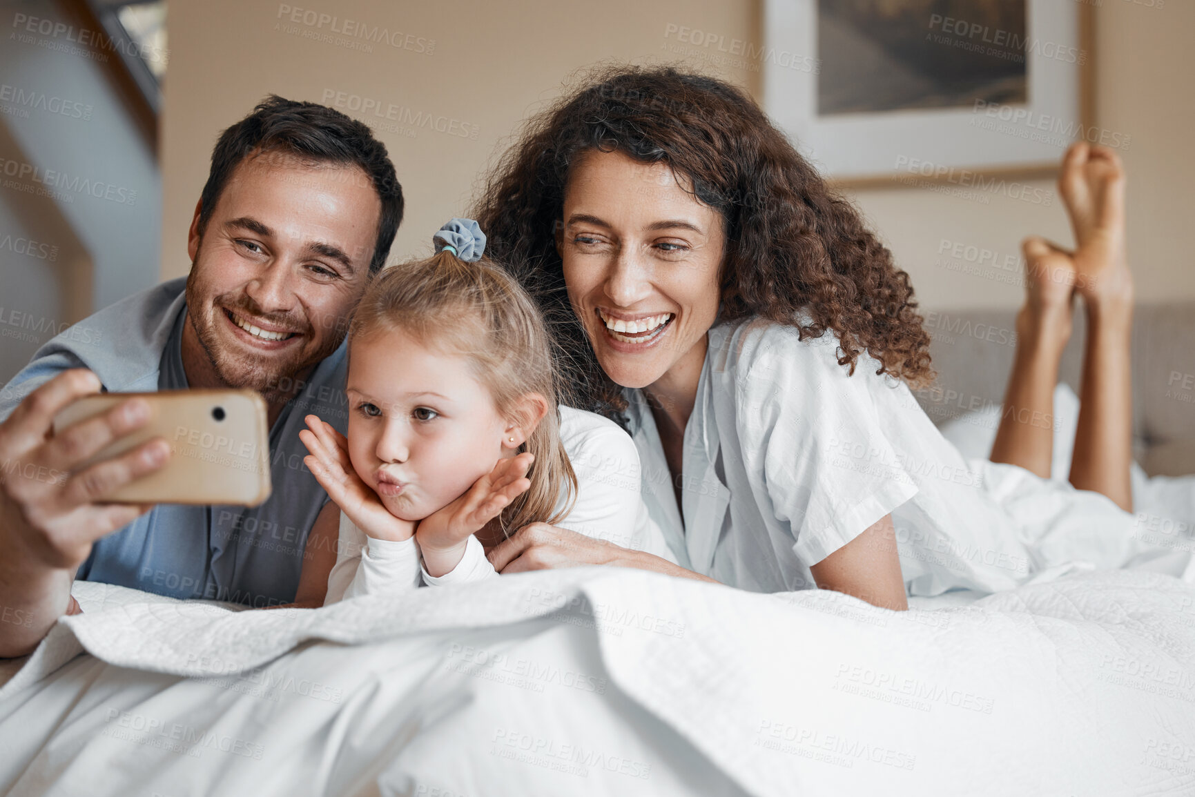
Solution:
{"label": "woman's long, voluminous curly dark brown hair", "polygon": [[565,403],[626,424],[626,399],[572,312],[556,247],[569,168],[592,149],[667,164],[722,215],[718,321],[761,317],[797,327],[801,339],[832,330],[848,373],[866,350],[878,374],[914,387],[932,380],[908,275],[759,105],[715,78],[624,66],[529,119],[474,215],[488,253],[535,296],[554,332]]}

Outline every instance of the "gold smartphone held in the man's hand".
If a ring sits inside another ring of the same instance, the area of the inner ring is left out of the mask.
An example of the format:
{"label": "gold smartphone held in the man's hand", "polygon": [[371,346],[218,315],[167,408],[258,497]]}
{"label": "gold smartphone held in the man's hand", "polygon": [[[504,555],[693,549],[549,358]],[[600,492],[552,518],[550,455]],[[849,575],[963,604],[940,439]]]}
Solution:
{"label": "gold smartphone held in the man's hand", "polygon": [[270,443],[265,400],[255,391],[160,391],[99,393],[71,404],[54,417],[54,433],[139,396],[149,421],[112,441],[86,462],[123,454],[154,437],[170,443],[158,471],[129,482],[102,501],[115,503],[241,504],[270,497]]}

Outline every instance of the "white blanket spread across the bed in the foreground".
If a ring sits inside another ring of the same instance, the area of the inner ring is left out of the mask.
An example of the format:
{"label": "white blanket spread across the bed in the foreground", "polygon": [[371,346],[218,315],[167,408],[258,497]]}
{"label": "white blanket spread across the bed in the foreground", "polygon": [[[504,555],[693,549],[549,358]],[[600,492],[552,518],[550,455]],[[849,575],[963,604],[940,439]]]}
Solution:
{"label": "white blanket spread across the bed in the foreground", "polygon": [[908,613],[620,569],[78,594],[0,689],[0,792],[1195,793],[1195,586],[1159,574]]}

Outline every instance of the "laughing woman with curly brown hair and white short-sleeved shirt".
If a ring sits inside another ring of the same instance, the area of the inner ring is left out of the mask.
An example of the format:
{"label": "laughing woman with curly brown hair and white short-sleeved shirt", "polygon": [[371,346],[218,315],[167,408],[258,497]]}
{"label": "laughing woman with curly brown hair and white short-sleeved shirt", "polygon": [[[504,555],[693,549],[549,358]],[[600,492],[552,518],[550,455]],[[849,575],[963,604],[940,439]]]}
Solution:
{"label": "laughing woman with curly brown hair and white short-sleeved shirt", "polygon": [[1108,498],[940,436],[906,385],[932,379],[908,275],[739,90],[615,70],[532,119],[477,217],[558,330],[569,403],[635,437],[685,565],[534,526],[491,552],[500,570],[612,563],[903,608],[1076,550],[1123,560]]}

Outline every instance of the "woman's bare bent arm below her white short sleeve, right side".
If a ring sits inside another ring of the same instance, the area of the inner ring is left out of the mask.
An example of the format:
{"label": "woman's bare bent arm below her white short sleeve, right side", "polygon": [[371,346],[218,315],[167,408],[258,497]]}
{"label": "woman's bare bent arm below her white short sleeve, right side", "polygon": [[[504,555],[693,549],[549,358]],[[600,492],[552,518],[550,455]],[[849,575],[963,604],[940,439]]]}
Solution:
{"label": "woman's bare bent arm below her white short sleeve, right side", "polygon": [[908,608],[891,515],[884,515],[809,570],[820,589],[853,595],[881,608]]}

